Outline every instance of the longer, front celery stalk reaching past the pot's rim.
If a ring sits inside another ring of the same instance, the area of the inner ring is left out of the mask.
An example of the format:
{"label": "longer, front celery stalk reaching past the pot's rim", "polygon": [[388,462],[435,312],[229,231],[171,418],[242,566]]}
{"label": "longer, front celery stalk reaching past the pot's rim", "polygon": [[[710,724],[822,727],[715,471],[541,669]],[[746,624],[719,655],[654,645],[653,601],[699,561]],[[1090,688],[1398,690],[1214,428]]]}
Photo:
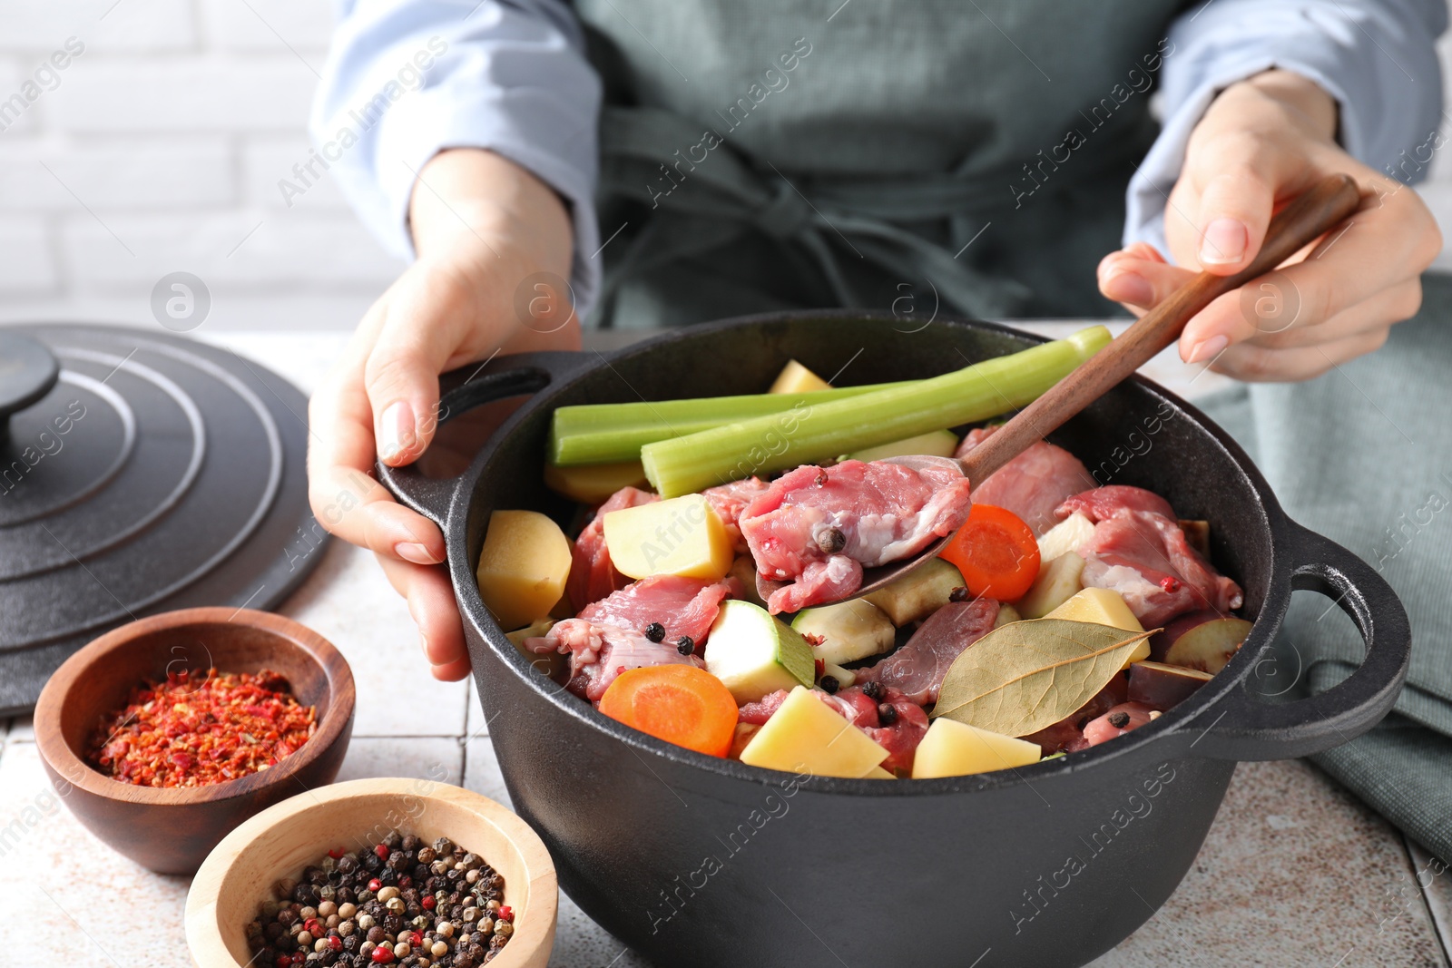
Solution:
{"label": "longer, front celery stalk reaching past the pot's rim", "polygon": [[828,460],[862,447],[998,417],[1025,406],[1109,343],[1104,327],[1080,329],[1003,357],[825,403],[800,402],[768,417],[659,440],[640,448],[664,498]]}

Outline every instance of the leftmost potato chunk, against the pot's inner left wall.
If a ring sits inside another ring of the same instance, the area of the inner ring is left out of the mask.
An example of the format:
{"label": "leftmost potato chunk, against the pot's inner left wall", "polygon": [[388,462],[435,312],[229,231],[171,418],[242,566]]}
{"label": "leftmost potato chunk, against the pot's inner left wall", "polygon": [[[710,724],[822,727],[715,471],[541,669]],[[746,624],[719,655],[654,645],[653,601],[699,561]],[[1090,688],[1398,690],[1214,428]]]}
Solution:
{"label": "leftmost potato chunk, against the pot's inner left wall", "polygon": [[549,615],[569,578],[569,538],[539,511],[495,511],[479,550],[479,595],[505,631]]}

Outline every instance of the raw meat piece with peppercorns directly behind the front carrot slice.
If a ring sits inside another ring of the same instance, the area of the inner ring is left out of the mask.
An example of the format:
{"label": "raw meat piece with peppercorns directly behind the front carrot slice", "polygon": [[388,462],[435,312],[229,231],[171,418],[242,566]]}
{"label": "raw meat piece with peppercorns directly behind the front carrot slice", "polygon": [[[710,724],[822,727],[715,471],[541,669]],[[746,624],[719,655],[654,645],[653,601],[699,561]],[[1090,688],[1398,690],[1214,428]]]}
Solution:
{"label": "raw meat piece with peppercorns directly behind the front carrot slice", "polygon": [[[729,591],[726,582],[655,575],[556,623],[543,637],[527,639],[524,647],[536,655],[568,655],[566,688],[598,702],[626,669],[678,663],[704,668],[694,652],[681,655],[680,639],[703,643]],[[659,641],[646,636],[652,623],[665,631]]]}

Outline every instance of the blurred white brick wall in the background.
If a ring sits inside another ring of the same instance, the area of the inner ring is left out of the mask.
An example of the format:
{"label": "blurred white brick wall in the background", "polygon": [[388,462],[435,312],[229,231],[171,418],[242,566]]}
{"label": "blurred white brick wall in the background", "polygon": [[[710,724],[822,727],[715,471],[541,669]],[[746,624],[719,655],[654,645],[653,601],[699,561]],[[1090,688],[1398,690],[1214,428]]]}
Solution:
{"label": "blurred white brick wall in the background", "polygon": [[[277,192],[331,20],[328,0],[0,0],[0,123],[68,38],[86,48],[0,131],[0,321],[150,324],[155,280],[186,270],[209,329],[351,328],[399,263],[331,180],[290,209]],[[1452,238],[1449,154],[1423,194]]]}

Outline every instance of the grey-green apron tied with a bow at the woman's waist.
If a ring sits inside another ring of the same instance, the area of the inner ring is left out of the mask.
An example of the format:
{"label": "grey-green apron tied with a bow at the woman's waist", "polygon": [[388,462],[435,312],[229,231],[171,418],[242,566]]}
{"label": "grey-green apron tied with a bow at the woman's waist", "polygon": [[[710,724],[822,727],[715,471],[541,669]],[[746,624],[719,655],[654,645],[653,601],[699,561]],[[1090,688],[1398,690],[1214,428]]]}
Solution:
{"label": "grey-green apron tied with a bow at the woman's waist", "polygon": [[1093,268],[1185,6],[578,0],[607,102],[594,322],[1115,312]]}

